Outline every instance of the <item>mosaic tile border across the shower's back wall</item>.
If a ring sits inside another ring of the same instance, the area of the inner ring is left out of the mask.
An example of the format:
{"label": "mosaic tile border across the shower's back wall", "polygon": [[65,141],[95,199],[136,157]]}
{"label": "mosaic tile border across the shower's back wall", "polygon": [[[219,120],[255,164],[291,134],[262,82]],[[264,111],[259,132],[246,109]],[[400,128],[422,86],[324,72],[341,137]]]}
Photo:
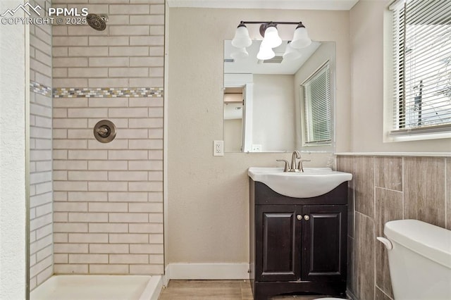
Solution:
{"label": "mosaic tile border across the shower's back wall", "polygon": [[56,87],[54,98],[162,97],[162,87]]}

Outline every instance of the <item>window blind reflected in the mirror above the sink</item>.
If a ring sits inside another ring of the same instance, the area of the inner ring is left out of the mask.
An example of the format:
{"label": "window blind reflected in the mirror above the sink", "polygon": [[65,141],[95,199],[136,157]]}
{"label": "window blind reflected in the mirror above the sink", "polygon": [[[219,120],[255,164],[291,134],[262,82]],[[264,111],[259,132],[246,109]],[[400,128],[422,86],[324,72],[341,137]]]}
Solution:
{"label": "window blind reflected in the mirror above the sink", "polygon": [[304,91],[304,144],[330,144],[330,67],[327,61],[302,83]]}

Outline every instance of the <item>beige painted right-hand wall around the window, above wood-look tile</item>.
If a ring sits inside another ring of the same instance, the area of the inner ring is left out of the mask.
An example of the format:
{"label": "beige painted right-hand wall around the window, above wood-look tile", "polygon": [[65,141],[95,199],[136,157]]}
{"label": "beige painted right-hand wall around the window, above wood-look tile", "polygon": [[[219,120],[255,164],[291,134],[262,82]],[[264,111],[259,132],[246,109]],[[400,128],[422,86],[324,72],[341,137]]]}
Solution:
{"label": "beige painted right-hand wall around the window, above wood-look tile", "polygon": [[383,13],[388,3],[359,1],[350,11],[351,150],[450,152],[451,139],[383,143]]}

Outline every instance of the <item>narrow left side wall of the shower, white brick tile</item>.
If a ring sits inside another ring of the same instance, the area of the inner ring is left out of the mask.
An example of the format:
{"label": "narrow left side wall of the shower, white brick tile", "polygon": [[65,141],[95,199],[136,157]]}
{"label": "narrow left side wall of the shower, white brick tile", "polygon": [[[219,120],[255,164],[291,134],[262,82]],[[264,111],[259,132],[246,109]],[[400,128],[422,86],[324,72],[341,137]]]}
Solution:
{"label": "narrow left side wall of the shower, white brick tile", "polygon": [[51,25],[30,25],[30,290],[53,274],[51,177]]}

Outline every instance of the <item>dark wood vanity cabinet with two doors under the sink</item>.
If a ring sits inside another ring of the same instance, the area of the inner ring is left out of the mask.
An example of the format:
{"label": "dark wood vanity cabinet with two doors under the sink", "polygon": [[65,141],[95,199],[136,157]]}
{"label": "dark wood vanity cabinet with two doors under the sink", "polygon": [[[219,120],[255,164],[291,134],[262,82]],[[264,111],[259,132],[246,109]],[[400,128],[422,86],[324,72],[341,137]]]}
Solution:
{"label": "dark wood vanity cabinet with two doors under the sink", "polygon": [[292,198],[250,180],[254,299],[290,293],[345,296],[347,182],[322,196]]}

